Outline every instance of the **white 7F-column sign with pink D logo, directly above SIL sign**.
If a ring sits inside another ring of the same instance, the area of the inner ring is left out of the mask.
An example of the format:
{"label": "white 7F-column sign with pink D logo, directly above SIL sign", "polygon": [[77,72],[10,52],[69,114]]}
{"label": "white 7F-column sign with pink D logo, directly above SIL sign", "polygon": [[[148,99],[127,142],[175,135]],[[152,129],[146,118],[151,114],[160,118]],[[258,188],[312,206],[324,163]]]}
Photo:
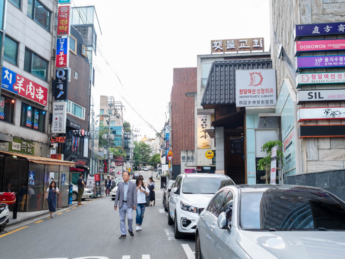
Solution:
{"label": "white 7F-column sign with pink D logo, directly above SIL sign", "polygon": [[334,73],[301,73],[297,75],[297,88],[304,84],[340,84],[345,83],[345,72]]}

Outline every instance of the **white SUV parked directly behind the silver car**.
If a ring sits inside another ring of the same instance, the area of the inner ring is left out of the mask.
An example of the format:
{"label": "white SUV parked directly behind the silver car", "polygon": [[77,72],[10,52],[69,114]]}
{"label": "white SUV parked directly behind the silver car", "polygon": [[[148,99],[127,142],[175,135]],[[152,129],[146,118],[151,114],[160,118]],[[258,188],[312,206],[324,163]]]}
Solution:
{"label": "white SUV parked directly behind the silver car", "polygon": [[222,181],[234,184],[221,174],[180,174],[169,197],[168,224],[174,224],[175,238],[193,234],[199,214],[206,208]]}

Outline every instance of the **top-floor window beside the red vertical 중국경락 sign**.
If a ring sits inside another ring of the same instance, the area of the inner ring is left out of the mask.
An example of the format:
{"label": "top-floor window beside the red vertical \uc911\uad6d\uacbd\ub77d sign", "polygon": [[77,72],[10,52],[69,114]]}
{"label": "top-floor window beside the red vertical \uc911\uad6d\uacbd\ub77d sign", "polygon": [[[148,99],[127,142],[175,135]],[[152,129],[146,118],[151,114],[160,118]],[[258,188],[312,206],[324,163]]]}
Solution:
{"label": "top-floor window beside the red vertical \uc911\uad6d\uacbd\ub77d sign", "polygon": [[50,11],[37,0],[28,0],[27,15],[46,31],[50,31]]}

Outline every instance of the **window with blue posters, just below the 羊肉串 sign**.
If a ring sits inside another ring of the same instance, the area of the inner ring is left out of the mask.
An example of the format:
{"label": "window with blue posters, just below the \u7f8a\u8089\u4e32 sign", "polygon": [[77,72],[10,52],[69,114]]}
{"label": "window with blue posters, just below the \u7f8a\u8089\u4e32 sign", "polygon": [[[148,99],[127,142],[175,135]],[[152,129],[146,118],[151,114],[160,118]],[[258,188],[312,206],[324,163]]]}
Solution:
{"label": "window with blue posters, just below the \u7f8a\u8089\u4e32 sign", "polygon": [[45,111],[22,103],[20,126],[44,132]]}

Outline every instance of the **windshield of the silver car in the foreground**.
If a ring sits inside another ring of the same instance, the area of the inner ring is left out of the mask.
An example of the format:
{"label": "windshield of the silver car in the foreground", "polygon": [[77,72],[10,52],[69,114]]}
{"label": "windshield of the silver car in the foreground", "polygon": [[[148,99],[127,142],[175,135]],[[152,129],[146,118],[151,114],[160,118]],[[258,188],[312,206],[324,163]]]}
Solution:
{"label": "windshield of the silver car in the foreground", "polygon": [[322,190],[268,188],[242,192],[240,219],[244,230],[345,231],[345,205]]}

